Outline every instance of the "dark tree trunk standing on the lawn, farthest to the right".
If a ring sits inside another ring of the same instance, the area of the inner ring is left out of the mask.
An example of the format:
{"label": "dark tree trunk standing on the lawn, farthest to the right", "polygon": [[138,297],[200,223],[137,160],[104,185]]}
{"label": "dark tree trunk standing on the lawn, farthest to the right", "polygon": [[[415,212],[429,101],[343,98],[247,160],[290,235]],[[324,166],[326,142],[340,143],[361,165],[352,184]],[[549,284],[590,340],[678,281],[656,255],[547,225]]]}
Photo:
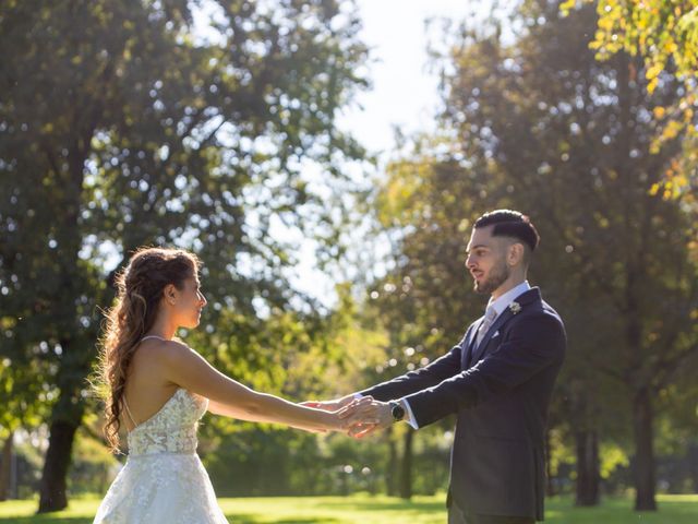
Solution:
{"label": "dark tree trunk standing on the lawn, farthest to the right", "polygon": [[647,388],[633,400],[635,429],[635,510],[655,511],[654,450],[652,432],[652,398]]}

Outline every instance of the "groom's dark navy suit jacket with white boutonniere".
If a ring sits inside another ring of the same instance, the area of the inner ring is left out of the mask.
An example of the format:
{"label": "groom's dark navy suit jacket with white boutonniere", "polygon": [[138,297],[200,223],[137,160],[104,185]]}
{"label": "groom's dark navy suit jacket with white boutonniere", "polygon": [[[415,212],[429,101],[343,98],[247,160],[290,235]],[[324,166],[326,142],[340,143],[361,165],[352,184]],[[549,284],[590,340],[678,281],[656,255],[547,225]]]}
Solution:
{"label": "groom's dark navy suit jacket with white boutonniere", "polygon": [[406,397],[419,427],[456,414],[448,503],[469,513],[543,519],[545,426],[566,335],[534,287],[506,309],[482,343],[473,322],[429,366],[362,391]]}

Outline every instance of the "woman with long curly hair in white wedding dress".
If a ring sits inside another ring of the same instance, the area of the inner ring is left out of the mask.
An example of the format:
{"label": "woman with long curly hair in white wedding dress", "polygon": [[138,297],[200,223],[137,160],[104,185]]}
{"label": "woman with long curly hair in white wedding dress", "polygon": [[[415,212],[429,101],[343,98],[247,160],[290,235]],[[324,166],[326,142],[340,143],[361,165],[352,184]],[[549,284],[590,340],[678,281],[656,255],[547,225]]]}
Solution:
{"label": "woman with long curly hair in white wedding dress", "polygon": [[103,500],[95,524],[228,521],[196,455],[196,425],[206,409],[243,420],[308,431],[346,431],[336,413],[257,393],[213,368],[174,340],[198,325],[206,298],[198,259],[186,251],[141,248],[117,281],[101,343],[105,433],[112,450],[128,431],[129,456]]}

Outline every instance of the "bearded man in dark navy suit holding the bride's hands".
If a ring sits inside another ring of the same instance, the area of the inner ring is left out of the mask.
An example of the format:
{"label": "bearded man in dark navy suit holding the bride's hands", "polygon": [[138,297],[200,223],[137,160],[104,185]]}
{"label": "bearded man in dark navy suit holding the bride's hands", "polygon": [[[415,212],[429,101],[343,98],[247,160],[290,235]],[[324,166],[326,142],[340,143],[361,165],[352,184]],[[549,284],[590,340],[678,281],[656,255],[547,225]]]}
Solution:
{"label": "bearded man in dark navy suit holding the bride's hands", "polygon": [[482,215],[466,266],[474,290],[490,295],[484,315],[429,366],[315,404],[342,408],[359,437],[399,420],[418,429],[456,414],[449,524],[543,520],[545,425],[566,337],[559,315],[526,279],[538,241],[518,212]]}

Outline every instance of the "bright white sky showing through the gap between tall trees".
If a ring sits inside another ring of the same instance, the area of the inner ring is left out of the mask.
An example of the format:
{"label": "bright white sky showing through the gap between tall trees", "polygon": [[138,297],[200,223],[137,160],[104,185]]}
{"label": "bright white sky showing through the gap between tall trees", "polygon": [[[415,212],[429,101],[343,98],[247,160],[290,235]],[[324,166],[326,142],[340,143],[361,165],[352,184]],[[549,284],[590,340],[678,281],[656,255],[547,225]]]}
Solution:
{"label": "bright white sky showing through the gap between tall trees", "polygon": [[[394,128],[409,135],[434,129],[438,106],[437,79],[428,71],[430,37],[438,41],[441,24],[428,33],[428,19],[455,23],[482,10],[490,1],[471,0],[357,0],[363,21],[362,39],[371,48],[369,76],[373,88],[361,93],[357,106],[346,111],[339,126],[372,153],[381,153],[381,165],[395,146]],[[293,282],[326,306],[335,300],[334,282],[315,267],[313,248],[303,246]]]}

